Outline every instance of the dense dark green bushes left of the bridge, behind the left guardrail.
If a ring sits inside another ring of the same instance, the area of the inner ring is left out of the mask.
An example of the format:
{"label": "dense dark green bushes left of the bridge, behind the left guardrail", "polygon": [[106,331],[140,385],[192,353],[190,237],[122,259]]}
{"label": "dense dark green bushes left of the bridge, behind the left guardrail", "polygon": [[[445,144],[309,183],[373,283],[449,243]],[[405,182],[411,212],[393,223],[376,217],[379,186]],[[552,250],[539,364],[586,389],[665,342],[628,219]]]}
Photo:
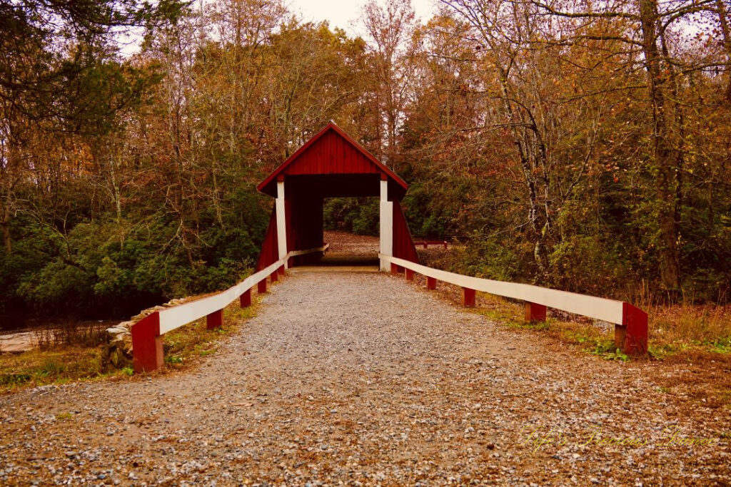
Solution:
{"label": "dense dark green bushes left of the bridge, behind the left guardrail", "polygon": [[219,291],[253,266],[259,243],[252,232],[264,225],[205,226],[192,263],[176,245],[174,224],[132,228],[83,221],[63,235],[25,222],[13,252],[0,250],[0,312],[126,318],[173,297]]}

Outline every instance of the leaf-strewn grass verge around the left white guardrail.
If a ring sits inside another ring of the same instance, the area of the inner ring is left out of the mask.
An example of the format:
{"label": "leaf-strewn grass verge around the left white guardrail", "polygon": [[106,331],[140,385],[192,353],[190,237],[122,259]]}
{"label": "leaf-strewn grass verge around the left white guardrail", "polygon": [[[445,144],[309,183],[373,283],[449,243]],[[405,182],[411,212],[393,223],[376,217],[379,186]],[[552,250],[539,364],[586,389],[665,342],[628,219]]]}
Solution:
{"label": "leaf-strewn grass verge around the left white guardrail", "polygon": [[[219,340],[239,329],[257,313],[257,300],[241,309],[235,300],[224,310],[220,329],[205,329],[205,318],[181,326],[164,335],[167,369],[189,367],[200,358],[216,353]],[[45,342],[43,348],[23,353],[0,353],[0,392],[19,388],[63,384],[79,380],[125,380],[134,374],[131,367],[107,369],[105,343]]]}

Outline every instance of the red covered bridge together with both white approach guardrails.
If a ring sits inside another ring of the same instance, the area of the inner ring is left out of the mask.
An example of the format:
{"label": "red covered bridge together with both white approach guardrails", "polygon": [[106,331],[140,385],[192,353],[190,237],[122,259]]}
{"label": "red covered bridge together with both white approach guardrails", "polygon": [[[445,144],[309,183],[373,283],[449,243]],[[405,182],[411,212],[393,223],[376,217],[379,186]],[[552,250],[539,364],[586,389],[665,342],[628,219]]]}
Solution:
{"label": "red covered bridge together with both white approach guardrails", "polygon": [[464,306],[474,306],[477,291],[523,301],[526,321],[544,321],[546,308],[551,307],[614,323],[618,348],[632,354],[647,352],[647,314],[627,302],[459,275],[419,264],[400,204],[408,186],[335,123],[328,123],[257,188],[276,198],[257,272],[219,294],[156,310],[135,323],[135,372],[162,365],[162,336],[167,331],[202,317],[209,328],[221,326],[223,309],[232,301],[239,299],[242,307],[249,306],[254,286],[260,293],[266,292],[268,278],[276,280],[287,267],[322,256],[322,204],[325,198],[338,196],[380,196],[381,270],[404,273],[407,280],[414,273],[424,275],[428,289],[436,288],[438,281],[457,285]]}

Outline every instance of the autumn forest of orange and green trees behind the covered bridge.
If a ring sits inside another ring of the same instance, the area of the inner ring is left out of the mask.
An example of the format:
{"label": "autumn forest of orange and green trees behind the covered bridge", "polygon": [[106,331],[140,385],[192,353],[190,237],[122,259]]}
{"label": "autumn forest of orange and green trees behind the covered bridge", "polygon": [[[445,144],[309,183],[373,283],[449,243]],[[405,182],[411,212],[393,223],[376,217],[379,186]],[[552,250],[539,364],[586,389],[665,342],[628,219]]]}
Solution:
{"label": "autumn forest of orange and green trees behind the covered bridge", "polygon": [[[0,328],[125,318],[253,266],[255,185],[328,120],[451,270],[656,302],[731,285],[731,2],[0,0]],[[120,39],[142,32],[140,52]],[[377,234],[368,200],[327,225]]]}

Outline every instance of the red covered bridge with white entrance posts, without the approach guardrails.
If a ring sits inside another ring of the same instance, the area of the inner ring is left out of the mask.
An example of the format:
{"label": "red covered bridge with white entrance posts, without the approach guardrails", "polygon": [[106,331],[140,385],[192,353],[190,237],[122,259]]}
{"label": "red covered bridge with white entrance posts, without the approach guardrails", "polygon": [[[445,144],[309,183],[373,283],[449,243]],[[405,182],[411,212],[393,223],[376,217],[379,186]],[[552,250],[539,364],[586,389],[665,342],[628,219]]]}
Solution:
{"label": "red covered bridge with white entrance posts, without the approach guardrails", "polygon": [[[276,198],[257,270],[288,252],[325,245],[323,202],[344,196],[380,196],[380,253],[418,262],[401,211],[408,187],[335,123],[328,123],[257,186]],[[287,266],[295,263],[290,259]],[[382,262],[381,268],[386,270],[387,264]]]}

